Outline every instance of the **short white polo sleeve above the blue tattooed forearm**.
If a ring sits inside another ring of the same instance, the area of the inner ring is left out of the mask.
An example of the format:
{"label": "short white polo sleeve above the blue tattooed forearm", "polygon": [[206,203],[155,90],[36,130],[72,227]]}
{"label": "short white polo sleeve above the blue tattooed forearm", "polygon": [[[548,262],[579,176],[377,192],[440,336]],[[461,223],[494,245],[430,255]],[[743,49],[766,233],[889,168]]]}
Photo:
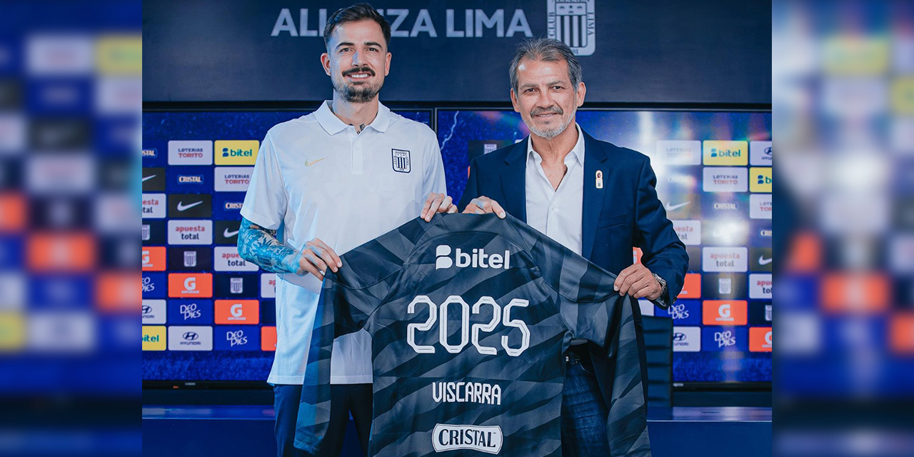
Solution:
{"label": "short white polo sleeve above the blue tattooed forearm", "polygon": [[241,216],[262,228],[275,230],[282,224],[287,203],[282,170],[268,132],[260,143],[248,193],[241,205]]}

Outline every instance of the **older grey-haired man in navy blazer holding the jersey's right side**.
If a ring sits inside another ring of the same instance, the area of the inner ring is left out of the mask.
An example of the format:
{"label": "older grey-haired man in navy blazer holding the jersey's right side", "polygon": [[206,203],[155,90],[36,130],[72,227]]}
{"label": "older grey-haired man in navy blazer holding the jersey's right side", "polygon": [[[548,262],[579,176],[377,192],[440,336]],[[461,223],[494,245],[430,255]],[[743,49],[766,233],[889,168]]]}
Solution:
{"label": "older grey-haired man in navy blazer holding the jersey's right side", "polygon": [[[564,43],[547,38],[522,43],[510,75],[511,101],[531,134],[473,159],[459,207],[503,217],[511,213],[618,274],[615,288],[632,297],[638,352],[646,367],[636,299],[668,307],[682,289],[688,266],[685,245],[657,197],[650,159],[596,140],[574,122],[586,87],[577,58]],[[633,263],[633,247],[642,249],[641,263]],[[576,343],[566,357],[562,455],[624,454],[629,450],[609,450],[606,440],[610,360],[605,350]],[[644,370],[642,377],[646,390]]]}

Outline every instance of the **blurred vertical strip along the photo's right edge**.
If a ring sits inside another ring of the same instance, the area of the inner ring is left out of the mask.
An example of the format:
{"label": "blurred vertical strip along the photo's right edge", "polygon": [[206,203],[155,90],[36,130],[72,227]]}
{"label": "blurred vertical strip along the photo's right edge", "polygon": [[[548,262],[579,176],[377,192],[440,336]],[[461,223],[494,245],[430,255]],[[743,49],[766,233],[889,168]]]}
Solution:
{"label": "blurred vertical strip along the photo's right edge", "polygon": [[775,453],[912,455],[914,4],[776,1],[771,48]]}

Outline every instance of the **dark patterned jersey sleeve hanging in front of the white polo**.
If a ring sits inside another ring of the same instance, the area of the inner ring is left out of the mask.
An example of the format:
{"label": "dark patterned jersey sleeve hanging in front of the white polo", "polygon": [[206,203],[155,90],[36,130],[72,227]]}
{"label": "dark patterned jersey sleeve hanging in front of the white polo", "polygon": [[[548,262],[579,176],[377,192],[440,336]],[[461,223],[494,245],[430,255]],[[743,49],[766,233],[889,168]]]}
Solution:
{"label": "dark patterned jersey sleeve hanging in front of the white polo", "polygon": [[334,338],[354,333],[384,303],[416,241],[430,224],[413,219],[340,256],[343,266],[327,271],[314,317],[295,447],[317,454],[330,420],[330,363]]}

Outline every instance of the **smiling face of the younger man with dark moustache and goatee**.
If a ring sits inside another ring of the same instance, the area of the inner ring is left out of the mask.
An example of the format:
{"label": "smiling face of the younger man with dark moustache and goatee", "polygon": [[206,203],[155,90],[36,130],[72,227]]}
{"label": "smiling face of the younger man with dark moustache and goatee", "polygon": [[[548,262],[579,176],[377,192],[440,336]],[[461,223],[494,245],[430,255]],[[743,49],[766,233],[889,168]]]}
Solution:
{"label": "smiling face of the younger man with dark moustache and goatee", "polygon": [[327,41],[321,63],[343,100],[375,100],[390,69],[390,53],[381,27],[372,20],[340,24]]}

